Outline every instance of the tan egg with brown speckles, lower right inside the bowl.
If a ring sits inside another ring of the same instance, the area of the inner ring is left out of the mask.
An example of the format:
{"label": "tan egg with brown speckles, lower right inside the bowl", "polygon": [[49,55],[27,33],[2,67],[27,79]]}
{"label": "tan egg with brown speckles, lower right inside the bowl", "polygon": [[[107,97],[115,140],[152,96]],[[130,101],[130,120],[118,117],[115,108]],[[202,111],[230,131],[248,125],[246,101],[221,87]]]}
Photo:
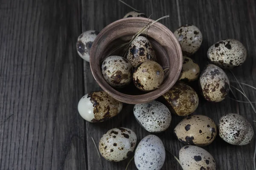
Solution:
{"label": "tan egg with brown speckles, lower right inside the bowl", "polygon": [[163,83],[163,68],[157,62],[147,60],[134,70],[134,85],[142,91],[152,91]]}

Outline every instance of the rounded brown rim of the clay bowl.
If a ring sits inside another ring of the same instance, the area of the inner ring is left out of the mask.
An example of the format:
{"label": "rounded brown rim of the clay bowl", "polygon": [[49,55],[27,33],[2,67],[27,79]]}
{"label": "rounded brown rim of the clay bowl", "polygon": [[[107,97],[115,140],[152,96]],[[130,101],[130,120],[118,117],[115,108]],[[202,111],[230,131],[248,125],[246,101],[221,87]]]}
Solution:
{"label": "rounded brown rim of the clay bowl", "polygon": [[[128,104],[141,104],[141,103],[150,102],[150,101],[153,101],[154,99],[157,99],[158,97],[162,96],[163,94],[165,94],[177,82],[177,79],[180,76],[180,72],[182,70],[182,64],[183,64],[183,54],[182,54],[182,51],[181,51],[181,48],[180,48],[180,43],[176,39],[175,35],[172,33],[172,31],[169,30],[169,28],[167,28],[166,26],[164,26],[163,24],[161,24],[159,22],[156,22],[156,23],[154,23],[154,26],[160,27],[162,30],[165,30],[165,31],[169,32],[169,34],[171,35],[171,39],[174,40],[173,43],[174,43],[175,49],[177,51],[179,66],[178,66],[177,75],[174,77],[172,82],[164,89],[161,89],[161,86],[160,86],[160,88],[157,88],[153,91],[149,91],[146,94],[140,94],[140,95],[123,94],[123,93],[115,90],[114,88],[112,88],[110,85],[108,85],[106,87],[104,85],[104,83],[101,82],[100,78],[97,76],[97,73],[96,73],[97,71],[94,68],[94,67],[97,66],[96,65],[97,62],[96,62],[96,59],[94,57],[95,54],[93,54],[93,51],[96,50],[96,46],[97,46],[99,40],[102,38],[102,36],[104,36],[105,30],[108,30],[109,28],[112,28],[113,26],[119,25],[121,23],[139,22],[139,21],[141,21],[142,23],[154,22],[154,20],[151,20],[151,19],[148,19],[148,18],[143,18],[143,17],[128,17],[128,18],[122,18],[120,20],[116,20],[113,23],[110,23],[105,28],[103,28],[102,31],[100,31],[100,33],[97,35],[96,39],[94,40],[93,45],[92,45],[91,50],[90,50],[90,69],[91,69],[92,75],[93,75],[94,79],[96,80],[96,82],[99,84],[99,86],[102,88],[102,90],[107,92],[114,99],[116,99],[120,102],[128,103]],[[93,62],[95,61],[94,62],[95,64],[92,64],[91,61],[93,61]],[[158,91],[158,93],[156,93],[156,91]],[[155,94],[152,95],[152,93],[155,93]]]}

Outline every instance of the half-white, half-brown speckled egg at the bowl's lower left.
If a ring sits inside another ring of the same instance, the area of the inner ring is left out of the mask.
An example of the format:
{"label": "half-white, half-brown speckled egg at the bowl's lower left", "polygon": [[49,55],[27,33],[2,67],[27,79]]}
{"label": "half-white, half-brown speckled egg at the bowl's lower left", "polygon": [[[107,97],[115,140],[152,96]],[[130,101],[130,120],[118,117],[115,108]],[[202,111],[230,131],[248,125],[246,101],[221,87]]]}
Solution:
{"label": "half-white, half-brown speckled egg at the bowl's lower left", "polygon": [[78,103],[79,114],[88,122],[102,122],[116,116],[122,110],[122,102],[105,91],[85,94]]}

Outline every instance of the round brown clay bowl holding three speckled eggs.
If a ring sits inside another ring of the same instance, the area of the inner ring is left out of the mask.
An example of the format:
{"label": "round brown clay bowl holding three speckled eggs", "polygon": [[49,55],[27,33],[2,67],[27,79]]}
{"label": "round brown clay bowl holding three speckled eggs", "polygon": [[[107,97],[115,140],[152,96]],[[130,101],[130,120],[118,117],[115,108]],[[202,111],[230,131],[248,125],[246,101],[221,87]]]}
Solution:
{"label": "round brown clay bowl holding three speckled eggs", "polygon": [[[143,17],[129,17],[117,20],[106,26],[96,37],[90,50],[90,68],[99,86],[113,98],[129,104],[150,102],[166,93],[177,81],[182,68],[182,52],[179,42],[172,32],[161,23],[154,23],[147,33],[157,55],[157,62],[163,67],[169,67],[165,80],[159,88],[151,92],[138,90],[133,82],[125,88],[114,89],[105,81],[101,65],[107,55],[119,45],[128,42],[148,22],[153,20]],[[141,34],[143,35],[143,34]],[[145,35],[145,34],[144,34]],[[124,49],[115,51],[111,55],[122,56]]]}

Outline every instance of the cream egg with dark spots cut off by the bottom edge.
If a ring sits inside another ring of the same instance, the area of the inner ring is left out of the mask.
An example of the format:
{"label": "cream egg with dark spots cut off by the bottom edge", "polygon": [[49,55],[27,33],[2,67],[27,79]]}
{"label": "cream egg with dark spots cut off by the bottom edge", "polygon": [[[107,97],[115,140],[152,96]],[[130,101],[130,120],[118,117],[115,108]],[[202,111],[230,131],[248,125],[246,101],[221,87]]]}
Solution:
{"label": "cream egg with dark spots cut off by the bottom edge", "polygon": [[201,147],[184,146],[179,152],[183,170],[216,170],[212,155]]}

